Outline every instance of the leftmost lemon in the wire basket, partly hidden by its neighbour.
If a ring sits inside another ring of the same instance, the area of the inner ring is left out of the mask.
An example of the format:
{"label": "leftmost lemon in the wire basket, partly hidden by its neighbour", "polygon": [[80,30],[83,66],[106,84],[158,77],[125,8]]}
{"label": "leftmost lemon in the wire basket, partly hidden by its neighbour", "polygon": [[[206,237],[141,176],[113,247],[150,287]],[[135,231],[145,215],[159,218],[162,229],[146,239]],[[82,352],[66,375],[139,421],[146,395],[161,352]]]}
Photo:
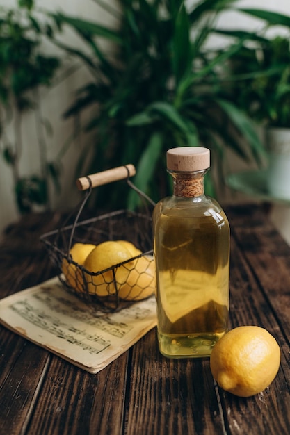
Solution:
{"label": "leftmost lemon in the wire basket, partly hidden by its neighbour", "polygon": [[[95,248],[95,245],[90,243],[75,243],[70,249],[70,256],[72,260],[75,261],[79,265],[83,265],[86,261],[88,254]],[[67,284],[74,288],[75,290],[83,291],[83,281],[81,279],[81,273],[76,267],[76,265],[67,261],[66,258],[63,258],[63,262],[61,265],[61,270],[65,275],[65,279]]]}

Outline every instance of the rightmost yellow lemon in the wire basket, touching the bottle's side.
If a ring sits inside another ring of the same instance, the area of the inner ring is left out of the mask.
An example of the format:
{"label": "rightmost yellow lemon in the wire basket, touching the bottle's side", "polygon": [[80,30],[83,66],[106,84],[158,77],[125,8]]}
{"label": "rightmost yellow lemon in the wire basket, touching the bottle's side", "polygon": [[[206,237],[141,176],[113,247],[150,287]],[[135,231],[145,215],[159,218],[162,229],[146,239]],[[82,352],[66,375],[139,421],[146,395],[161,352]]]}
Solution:
{"label": "rightmost yellow lemon in the wire basket, touching the bottle's side", "polygon": [[[122,271],[117,270],[116,279],[119,284],[118,294],[122,299],[140,300],[155,292],[155,268],[152,256],[141,256],[126,265]],[[121,277],[122,274],[122,277]]]}

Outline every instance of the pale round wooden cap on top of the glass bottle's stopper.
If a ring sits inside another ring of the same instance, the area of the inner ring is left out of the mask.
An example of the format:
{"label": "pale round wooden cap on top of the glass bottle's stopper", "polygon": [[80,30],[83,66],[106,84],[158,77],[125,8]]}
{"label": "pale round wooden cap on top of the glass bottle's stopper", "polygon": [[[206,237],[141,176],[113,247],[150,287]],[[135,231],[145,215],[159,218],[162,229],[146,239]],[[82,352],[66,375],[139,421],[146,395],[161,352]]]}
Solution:
{"label": "pale round wooden cap on top of the glass bottle's stopper", "polygon": [[172,171],[192,172],[210,166],[210,151],[204,147],[179,147],[168,149],[167,168]]}

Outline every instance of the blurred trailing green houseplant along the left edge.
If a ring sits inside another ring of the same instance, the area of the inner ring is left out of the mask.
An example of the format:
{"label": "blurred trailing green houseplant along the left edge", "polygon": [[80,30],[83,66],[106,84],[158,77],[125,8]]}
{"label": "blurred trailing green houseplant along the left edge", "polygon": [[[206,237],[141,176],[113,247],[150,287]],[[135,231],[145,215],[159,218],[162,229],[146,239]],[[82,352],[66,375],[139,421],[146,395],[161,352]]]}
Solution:
{"label": "blurred trailing green houseplant along the left edge", "polygon": [[[42,37],[47,31],[51,34],[51,27],[40,23],[32,8],[32,1],[19,0],[19,8],[0,9],[0,149],[12,169],[17,206],[22,213],[31,211],[35,204],[47,206],[49,177],[58,183],[58,167],[47,161],[47,122],[41,115],[39,90],[51,85],[60,62],[56,56],[42,53]],[[22,119],[29,110],[35,114],[40,169],[22,175],[20,161],[31,147],[22,138]]]}

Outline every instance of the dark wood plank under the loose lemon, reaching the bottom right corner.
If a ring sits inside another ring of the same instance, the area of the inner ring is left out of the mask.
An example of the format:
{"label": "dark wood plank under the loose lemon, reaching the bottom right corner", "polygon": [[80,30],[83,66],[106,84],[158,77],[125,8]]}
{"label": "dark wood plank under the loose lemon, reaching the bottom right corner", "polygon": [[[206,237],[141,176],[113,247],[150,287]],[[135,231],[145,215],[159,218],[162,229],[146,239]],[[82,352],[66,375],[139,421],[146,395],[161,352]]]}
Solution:
{"label": "dark wood plank under the loose lemon, reaching the bottom right corner", "polygon": [[[270,264],[268,269],[271,270]],[[264,392],[253,397],[241,398],[220,390],[227,433],[232,435],[287,434],[290,427],[289,340],[280,329],[275,312],[265,298],[257,274],[253,272],[243,252],[236,245],[234,236],[230,282],[232,327],[258,325],[266,328],[275,336],[282,355],[278,375]],[[277,418],[277,415],[282,416],[282,419]]]}

